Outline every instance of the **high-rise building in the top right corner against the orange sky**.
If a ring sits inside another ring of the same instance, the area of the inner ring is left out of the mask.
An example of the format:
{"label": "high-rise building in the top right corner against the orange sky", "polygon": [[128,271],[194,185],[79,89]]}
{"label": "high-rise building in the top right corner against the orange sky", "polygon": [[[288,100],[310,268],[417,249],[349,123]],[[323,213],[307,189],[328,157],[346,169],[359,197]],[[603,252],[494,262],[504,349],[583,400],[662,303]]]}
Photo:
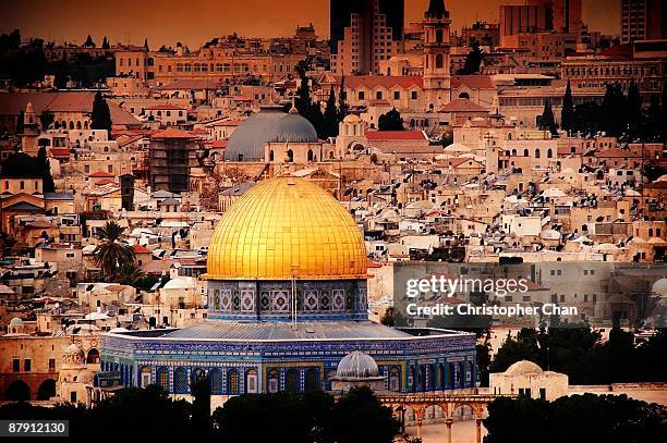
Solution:
{"label": "high-rise building in the top right corner against the orange sky", "polygon": [[667,38],[667,0],[621,0],[621,42]]}

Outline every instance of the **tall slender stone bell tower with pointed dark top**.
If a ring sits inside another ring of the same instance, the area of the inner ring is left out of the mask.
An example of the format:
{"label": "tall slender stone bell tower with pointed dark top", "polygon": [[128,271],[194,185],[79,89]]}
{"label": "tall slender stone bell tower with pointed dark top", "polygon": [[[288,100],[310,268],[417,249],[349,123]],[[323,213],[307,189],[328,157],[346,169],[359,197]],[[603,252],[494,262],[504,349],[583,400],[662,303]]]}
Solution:
{"label": "tall slender stone bell tower with pointed dark top", "polygon": [[449,11],[444,0],[430,0],[424,14],[424,94],[426,110],[449,102]]}

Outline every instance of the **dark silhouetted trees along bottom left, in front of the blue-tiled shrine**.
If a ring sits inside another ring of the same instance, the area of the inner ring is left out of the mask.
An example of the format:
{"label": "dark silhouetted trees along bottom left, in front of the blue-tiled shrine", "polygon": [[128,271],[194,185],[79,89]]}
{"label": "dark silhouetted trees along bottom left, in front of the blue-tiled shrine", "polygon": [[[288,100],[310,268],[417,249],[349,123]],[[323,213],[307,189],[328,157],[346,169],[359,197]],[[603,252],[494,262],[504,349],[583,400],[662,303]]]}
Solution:
{"label": "dark silhouetted trees along bottom left, in front of the blue-tiled shrine", "polygon": [[90,409],[11,403],[0,406],[0,419],[69,420],[70,438],[77,441],[106,430],[117,438],[126,432],[132,441],[189,435],[216,442],[390,443],[400,429],[368,387],[352,389],[338,401],[324,392],[245,394],[210,414],[208,385],[206,379],[193,382],[192,404],[149,385],[123,389]]}

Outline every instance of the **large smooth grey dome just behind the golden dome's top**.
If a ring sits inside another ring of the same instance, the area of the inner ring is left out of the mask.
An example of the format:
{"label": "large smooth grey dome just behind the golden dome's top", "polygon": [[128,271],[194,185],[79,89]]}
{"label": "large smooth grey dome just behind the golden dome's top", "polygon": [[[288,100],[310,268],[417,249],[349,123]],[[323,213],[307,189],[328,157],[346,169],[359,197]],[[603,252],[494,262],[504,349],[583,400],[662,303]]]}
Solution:
{"label": "large smooth grey dome just behind the golden dome's top", "polygon": [[264,144],[269,141],[317,141],[317,132],[298,113],[284,113],[280,106],[263,106],[229,137],[225,159],[230,161],[263,161]]}

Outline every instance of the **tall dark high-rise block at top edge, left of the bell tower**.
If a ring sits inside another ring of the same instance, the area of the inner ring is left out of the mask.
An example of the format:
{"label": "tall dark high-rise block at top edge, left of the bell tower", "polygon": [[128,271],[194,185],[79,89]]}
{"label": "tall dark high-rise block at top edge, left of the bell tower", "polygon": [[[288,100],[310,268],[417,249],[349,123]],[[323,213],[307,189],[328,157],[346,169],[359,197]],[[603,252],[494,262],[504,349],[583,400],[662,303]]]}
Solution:
{"label": "tall dark high-rise block at top edge, left of the bell tower", "polygon": [[403,16],[404,0],[331,0],[333,73],[377,73],[400,50]]}

